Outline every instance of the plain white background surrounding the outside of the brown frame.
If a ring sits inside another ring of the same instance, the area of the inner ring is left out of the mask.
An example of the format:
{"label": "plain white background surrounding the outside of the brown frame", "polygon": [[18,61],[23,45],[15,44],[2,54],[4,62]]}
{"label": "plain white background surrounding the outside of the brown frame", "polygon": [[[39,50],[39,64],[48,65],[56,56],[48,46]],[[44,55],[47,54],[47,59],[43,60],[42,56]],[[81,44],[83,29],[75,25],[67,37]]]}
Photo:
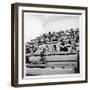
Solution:
{"label": "plain white background surrounding the outside of the brown frame", "polygon": [[[88,6],[90,11],[90,0],[1,0],[0,1],[0,90],[90,90],[90,77],[87,84],[68,84],[55,86],[39,86],[13,88],[10,86],[11,78],[11,3],[28,2],[28,3],[46,3],[61,5]],[[88,15],[90,20],[90,12]],[[89,21],[90,23],[90,21]],[[90,34],[90,26],[88,29]],[[90,35],[88,35],[90,38]],[[88,42],[90,46],[90,41]],[[88,47],[90,53],[90,47]],[[90,55],[88,56],[90,63]],[[88,66],[90,68],[90,65]],[[90,76],[90,70],[88,72]]]}

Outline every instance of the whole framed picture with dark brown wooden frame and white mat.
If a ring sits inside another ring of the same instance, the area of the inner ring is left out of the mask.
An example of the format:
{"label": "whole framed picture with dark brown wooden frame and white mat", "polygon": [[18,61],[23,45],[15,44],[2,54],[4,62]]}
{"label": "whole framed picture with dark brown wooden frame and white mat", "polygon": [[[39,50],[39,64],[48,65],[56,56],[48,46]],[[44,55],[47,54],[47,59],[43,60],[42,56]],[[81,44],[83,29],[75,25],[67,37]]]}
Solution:
{"label": "whole framed picture with dark brown wooden frame and white mat", "polygon": [[87,82],[87,7],[12,5],[12,84]]}

